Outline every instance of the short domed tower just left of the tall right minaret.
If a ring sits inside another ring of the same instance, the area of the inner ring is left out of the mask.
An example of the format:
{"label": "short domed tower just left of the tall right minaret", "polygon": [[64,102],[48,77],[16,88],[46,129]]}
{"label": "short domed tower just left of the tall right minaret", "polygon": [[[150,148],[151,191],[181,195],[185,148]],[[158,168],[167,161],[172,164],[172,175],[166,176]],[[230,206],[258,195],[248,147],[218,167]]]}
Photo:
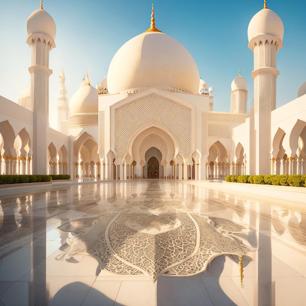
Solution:
{"label": "short domed tower just left of the tall right minaret", "polygon": [[245,114],[247,106],[246,80],[241,76],[240,69],[238,76],[232,82],[231,88],[231,112]]}

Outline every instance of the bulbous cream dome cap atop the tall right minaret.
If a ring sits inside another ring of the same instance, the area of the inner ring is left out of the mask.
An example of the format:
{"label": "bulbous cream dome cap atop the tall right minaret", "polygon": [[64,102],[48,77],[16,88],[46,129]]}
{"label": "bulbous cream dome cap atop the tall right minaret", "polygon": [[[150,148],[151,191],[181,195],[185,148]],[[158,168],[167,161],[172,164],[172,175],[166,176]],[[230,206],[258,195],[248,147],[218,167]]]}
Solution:
{"label": "bulbous cream dome cap atop the tall right minaret", "polygon": [[247,29],[247,37],[249,42],[253,37],[260,34],[277,36],[281,39],[281,41],[283,41],[284,24],[276,13],[267,8],[263,8],[254,15]]}

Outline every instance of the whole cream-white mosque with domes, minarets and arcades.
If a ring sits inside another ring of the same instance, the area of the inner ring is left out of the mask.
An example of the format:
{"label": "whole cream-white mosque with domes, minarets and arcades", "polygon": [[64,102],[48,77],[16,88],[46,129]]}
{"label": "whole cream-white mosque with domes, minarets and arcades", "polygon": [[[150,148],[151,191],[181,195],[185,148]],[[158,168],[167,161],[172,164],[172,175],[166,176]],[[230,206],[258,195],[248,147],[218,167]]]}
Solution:
{"label": "whole cream-white mosque with domes, minarets and arcades", "polygon": [[[266,7],[249,23],[254,103],[239,75],[230,112],[178,41],[151,27],[113,56],[97,87],[86,74],[71,100],[60,76],[58,131],[49,127],[49,52],[56,25],[41,8],[26,23],[30,87],[18,104],[0,96],[0,173],[72,178],[205,180],[229,174],[306,174],[306,82],[276,109],[277,52],[284,25]],[[124,68],[122,68],[124,67]]]}

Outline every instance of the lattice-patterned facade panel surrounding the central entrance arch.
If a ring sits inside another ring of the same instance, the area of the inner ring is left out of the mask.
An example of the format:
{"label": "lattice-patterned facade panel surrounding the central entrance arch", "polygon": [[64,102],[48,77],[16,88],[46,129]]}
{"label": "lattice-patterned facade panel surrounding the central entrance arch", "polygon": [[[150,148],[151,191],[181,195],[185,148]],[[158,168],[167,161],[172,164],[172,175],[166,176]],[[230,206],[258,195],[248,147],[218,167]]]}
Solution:
{"label": "lattice-patterned facade panel surrounding the central entrance arch", "polygon": [[157,123],[172,132],[179,153],[191,156],[191,109],[157,94],[136,99],[115,109],[115,151],[123,159],[131,136],[140,128]]}

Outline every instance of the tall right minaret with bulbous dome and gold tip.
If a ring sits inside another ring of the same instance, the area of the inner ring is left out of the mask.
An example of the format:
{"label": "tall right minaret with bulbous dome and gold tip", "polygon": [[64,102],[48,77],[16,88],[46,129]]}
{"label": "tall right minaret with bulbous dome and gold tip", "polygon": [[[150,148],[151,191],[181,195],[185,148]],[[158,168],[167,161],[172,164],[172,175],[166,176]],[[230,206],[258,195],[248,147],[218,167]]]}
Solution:
{"label": "tall right minaret with bulbous dome and gold tip", "polygon": [[[284,25],[280,17],[264,8],[250,21],[248,47],[254,52],[254,124],[256,174],[270,173],[271,111],[276,108],[276,53],[283,47]],[[250,161],[251,162],[251,161]]]}

